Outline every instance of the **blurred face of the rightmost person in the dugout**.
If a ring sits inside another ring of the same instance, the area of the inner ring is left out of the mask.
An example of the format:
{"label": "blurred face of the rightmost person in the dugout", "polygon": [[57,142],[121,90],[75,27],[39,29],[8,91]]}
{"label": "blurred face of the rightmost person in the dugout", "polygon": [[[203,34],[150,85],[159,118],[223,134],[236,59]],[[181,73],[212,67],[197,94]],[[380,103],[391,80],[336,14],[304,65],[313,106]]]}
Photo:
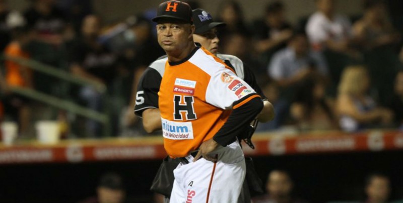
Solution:
{"label": "blurred face of the rightmost person in the dugout", "polygon": [[368,198],[377,202],[386,202],[389,190],[389,180],[384,177],[373,177],[366,188]]}

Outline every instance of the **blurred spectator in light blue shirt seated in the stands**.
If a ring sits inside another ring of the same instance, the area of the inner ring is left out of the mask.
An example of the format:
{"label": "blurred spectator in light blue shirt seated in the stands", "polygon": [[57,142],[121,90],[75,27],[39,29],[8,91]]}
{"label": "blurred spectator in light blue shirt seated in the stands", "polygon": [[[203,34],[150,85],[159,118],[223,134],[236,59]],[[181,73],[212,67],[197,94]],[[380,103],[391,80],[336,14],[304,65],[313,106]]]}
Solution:
{"label": "blurred spectator in light blue shirt seated in the stands", "polygon": [[327,64],[319,52],[312,52],[305,34],[296,33],[287,48],[277,52],[267,68],[267,73],[279,86],[295,85],[309,75],[327,75]]}

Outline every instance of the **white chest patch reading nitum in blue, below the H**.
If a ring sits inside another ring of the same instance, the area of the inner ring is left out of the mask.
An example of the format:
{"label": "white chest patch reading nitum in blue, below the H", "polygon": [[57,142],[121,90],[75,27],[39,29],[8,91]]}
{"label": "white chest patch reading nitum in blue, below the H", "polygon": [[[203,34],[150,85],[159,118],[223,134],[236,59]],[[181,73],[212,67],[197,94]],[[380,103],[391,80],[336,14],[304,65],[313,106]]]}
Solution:
{"label": "white chest patch reading nitum in blue, below the H", "polygon": [[161,118],[162,136],[170,140],[192,140],[193,128],[191,122],[174,122]]}

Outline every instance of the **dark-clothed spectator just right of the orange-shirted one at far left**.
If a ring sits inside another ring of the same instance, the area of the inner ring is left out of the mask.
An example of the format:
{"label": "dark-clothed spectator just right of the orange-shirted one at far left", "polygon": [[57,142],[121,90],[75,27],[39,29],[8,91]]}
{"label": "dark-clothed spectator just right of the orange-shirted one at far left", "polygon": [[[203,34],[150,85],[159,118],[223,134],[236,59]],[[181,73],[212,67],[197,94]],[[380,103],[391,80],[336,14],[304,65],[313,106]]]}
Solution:
{"label": "dark-clothed spectator just right of the orange-shirted one at far left", "polygon": [[[68,69],[64,42],[73,38],[74,34],[67,32],[73,29],[68,26],[70,24],[63,11],[56,7],[55,0],[31,0],[28,2],[30,6],[24,12],[24,17],[27,25],[36,32],[35,40],[29,47],[31,58],[59,69]],[[34,84],[38,91],[64,96],[60,91],[62,83],[48,74],[36,72]]]}

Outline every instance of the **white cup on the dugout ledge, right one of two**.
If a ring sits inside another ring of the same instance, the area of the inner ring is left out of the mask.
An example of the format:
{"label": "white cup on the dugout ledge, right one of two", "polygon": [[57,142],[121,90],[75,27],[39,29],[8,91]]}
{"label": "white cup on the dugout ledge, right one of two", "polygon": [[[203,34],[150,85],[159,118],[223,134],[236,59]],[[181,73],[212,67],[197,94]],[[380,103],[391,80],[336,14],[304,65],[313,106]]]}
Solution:
{"label": "white cup on the dugout ledge, right one of two", "polygon": [[36,136],[41,144],[56,144],[60,139],[57,121],[38,121],[35,124]]}

